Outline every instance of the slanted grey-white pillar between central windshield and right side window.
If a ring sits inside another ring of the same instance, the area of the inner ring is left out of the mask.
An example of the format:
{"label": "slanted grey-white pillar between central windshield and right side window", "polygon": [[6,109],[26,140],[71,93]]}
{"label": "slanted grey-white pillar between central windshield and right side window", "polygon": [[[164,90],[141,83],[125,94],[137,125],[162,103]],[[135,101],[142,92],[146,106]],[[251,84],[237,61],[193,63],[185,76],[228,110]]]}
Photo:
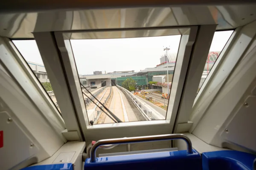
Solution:
{"label": "slanted grey-white pillar between central windshield and right side window", "polygon": [[197,39],[193,46],[193,53],[190,57],[189,68],[186,75],[185,86],[180,101],[180,106],[176,118],[177,124],[187,123],[192,112],[192,106],[200,83],[201,75],[204,71],[205,61],[209,53],[212,38],[215,33],[216,25],[204,25],[198,29]]}

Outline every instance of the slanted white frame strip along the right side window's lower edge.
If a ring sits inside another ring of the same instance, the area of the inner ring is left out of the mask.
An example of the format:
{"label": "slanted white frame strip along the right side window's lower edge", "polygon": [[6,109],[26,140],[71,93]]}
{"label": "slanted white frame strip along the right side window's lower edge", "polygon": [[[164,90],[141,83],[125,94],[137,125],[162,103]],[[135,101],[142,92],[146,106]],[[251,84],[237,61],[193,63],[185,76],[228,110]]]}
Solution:
{"label": "slanted white frame strip along the right side window's lower edge", "polygon": [[[243,55],[244,51],[246,50],[247,46],[244,44],[249,44],[250,40],[244,41],[244,37],[247,37],[247,34],[252,34],[252,32],[248,32],[248,30],[250,30],[248,28],[250,28],[250,26],[253,24],[255,25],[255,22],[238,27],[233,31],[220,55],[212,66],[211,71],[207,75],[201,89],[196,95],[192,113],[189,118],[189,120],[193,121],[193,125],[189,129],[189,133],[192,133],[200,123],[212,101],[215,100],[215,96],[218,95],[221,86],[225,83],[224,79],[227,78],[230,71],[232,71],[236,63],[239,61],[239,57]],[[242,41],[244,41],[244,44],[241,47]],[[234,50],[234,48],[239,49],[239,54],[237,50]],[[234,56],[234,54],[232,54],[234,52],[236,52],[236,58],[231,57]],[[226,62],[227,60],[232,60],[232,64]]]}

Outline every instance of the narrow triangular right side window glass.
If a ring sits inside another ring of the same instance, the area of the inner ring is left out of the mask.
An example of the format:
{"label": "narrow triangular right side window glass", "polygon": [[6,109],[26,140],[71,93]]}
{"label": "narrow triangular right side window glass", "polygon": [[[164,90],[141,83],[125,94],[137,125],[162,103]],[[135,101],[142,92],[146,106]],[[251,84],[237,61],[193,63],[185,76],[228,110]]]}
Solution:
{"label": "narrow triangular right side window glass", "polygon": [[201,81],[198,87],[198,92],[201,89],[201,86],[204,84],[204,81],[207,78],[209,72],[211,71],[215,61],[218,60],[218,56],[220,55],[222,49],[226,45],[232,33],[233,31],[218,31],[214,33],[210,51],[208,53],[207,60],[204,66],[204,72],[202,74]]}

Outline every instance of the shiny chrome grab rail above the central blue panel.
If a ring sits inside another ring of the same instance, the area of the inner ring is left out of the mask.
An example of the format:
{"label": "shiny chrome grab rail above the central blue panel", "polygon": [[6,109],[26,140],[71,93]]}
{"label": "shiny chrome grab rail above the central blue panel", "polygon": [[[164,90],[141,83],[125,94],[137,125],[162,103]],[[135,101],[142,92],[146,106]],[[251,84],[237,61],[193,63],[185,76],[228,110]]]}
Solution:
{"label": "shiny chrome grab rail above the central blue panel", "polygon": [[99,146],[107,145],[107,144],[127,144],[127,143],[137,143],[137,142],[146,142],[146,141],[165,141],[172,139],[183,139],[187,144],[187,152],[193,153],[192,151],[192,143],[186,135],[183,134],[166,134],[166,135],[150,135],[150,136],[139,136],[139,137],[129,137],[129,138],[113,138],[113,139],[102,139],[96,141],[93,144],[90,150],[90,162],[96,161],[96,149]]}

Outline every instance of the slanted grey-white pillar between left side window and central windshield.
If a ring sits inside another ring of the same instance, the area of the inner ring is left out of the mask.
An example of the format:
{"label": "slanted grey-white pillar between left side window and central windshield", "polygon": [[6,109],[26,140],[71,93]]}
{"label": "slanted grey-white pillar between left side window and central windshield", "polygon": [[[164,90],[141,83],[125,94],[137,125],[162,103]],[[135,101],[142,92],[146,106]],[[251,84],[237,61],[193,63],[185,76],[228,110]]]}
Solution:
{"label": "slanted grey-white pillar between left side window and central windshield", "polygon": [[34,37],[65,121],[67,128],[65,133],[72,133],[72,138],[68,138],[68,140],[83,141],[55,37],[51,32],[35,32]]}

